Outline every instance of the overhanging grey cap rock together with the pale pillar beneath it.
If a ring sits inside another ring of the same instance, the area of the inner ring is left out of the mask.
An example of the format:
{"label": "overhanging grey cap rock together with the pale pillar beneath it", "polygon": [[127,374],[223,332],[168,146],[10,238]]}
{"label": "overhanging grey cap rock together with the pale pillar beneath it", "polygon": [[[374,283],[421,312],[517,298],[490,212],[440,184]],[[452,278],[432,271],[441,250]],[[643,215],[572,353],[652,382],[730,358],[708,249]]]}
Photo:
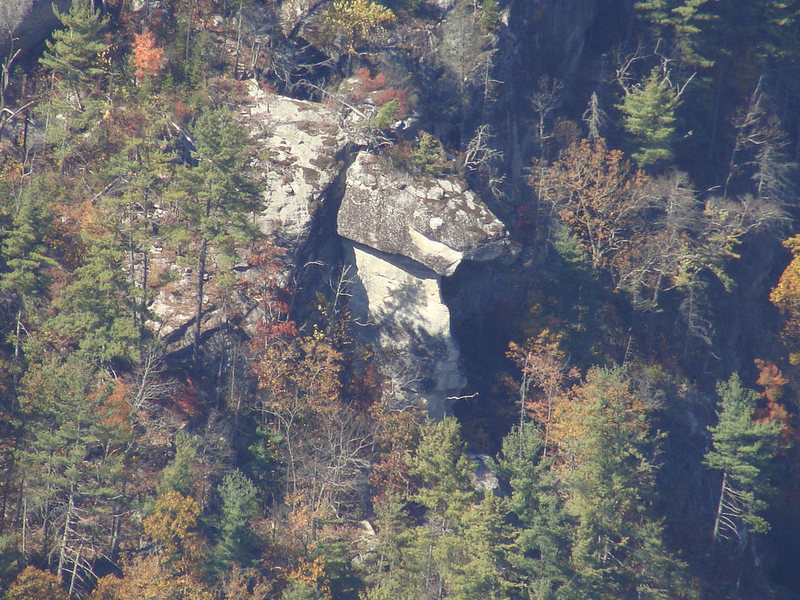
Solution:
{"label": "overhanging grey cap rock together with the pale pillar beneath it", "polygon": [[362,152],[347,171],[338,232],[357,278],[353,312],[398,401],[420,399],[441,416],[466,384],[441,278],[463,260],[499,256],[503,224],[461,182],[414,177]]}

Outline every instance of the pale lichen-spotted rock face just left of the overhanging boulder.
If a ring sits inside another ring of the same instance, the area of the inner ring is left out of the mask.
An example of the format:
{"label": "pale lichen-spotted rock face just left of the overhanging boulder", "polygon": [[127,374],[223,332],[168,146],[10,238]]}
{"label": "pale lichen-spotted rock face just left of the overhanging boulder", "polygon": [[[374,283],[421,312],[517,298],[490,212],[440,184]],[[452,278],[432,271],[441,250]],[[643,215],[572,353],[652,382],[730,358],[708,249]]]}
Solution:
{"label": "pale lichen-spotted rock face just left of the overhanging boulder", "polygon": [[250,82],[253,98],[243,107],[248,125],[267,156],[261,230],[284,245],[308,237],[323,195],[344,168],[348,135],[323,104],[264,92]]}

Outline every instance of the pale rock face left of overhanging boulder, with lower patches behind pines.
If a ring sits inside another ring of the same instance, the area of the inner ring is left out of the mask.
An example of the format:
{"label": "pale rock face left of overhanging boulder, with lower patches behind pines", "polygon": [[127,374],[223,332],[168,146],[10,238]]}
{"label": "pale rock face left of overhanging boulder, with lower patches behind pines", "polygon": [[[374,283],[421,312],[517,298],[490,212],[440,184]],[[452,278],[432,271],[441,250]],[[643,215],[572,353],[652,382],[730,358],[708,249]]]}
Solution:
{"label": "pale rock face left of overhanging boulder, with lower patches behind pines", "polygon": [[[304,102],[261,90],[248,82],[250,101],[238,107],[239,116],[250,128],[261,158],[257,168],[262,180],[262,210],[256,222],[268,238],[285,254],[286,275],[297,259],[298,249],[314,231],[314,216],[330,195],[336,177],[345,168],[343,158],[349,138],[337,125],[336,115],[323,104]],[[256,276],[245,262],[237,265],[239,275]],[[191,266],[173,264],[174,257],[154,250],[154,270],[168,275],[168,285],[153,290],[151,313],[156,317],[150,326],[178,350],[191,340],[188,337],[196,309],[196,274]],[[208,258],[208,281],[204,304],[203,335],[207,336],[229,320],[246,330],[252,323],[255,302],[239,293],[232,294],[216,285],[218,265],[214,248]]]}

